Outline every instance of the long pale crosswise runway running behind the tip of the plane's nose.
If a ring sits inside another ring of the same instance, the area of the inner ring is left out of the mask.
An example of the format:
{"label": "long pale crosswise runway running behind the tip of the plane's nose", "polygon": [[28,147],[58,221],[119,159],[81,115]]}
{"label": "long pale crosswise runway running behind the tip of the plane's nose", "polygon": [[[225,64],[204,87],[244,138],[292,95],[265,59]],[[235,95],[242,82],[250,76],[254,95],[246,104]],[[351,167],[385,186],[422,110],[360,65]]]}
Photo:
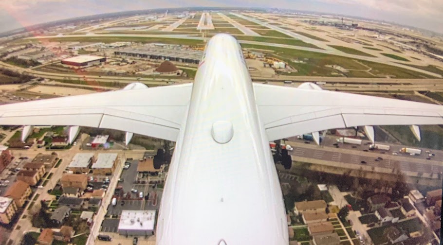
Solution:
{"label": "long pale crosswise runway running behind the tip of the plane's nose", "polygon": [[[203,38],[201,36],[188,36],[188,35],[149,35],[149,34],[91,34],[91,35],[50,35],[50,36],[34,36],[34,37],[28,37],[26,39],[45,39],[45,38],[69,38],[69,37],[163,37],[163,38],[178,38],[178,39],[191,39],[191,40],[208,40],[209,38]],[[360,60],[366,60],[376,63],[382,63],[387,64],[390,66],[400,67],[407,70],[413,70],[417,72],[421,72],[427,75],[431,75],[434,77],[442,78],[442,75],[436,74],[427,70],[421,70],[415,67],[406,66],[403,64],[399,64],[397,62],[391,62],[386,61],[384,58],[380,57],[367,57],[367,56],[360,56],[355,54],[349,54],[349,53],[343,53],[341,51],[332,49],[331,50],[322,50],[322,49],[313,49],[313,48],[307,48],[307,47],[300,47],[300,46],[292,46],[287,44],[277,44],[277,43],[266,43],[266,42],[256,42],[256,41],[246,41],[246,40],[239,40],[240,43],[243,44],[253,44],[253,45],[261,45],[261,46],[268,46],[268,47],[277,47],[277,48],[286,48],[286,49],[295,49],[295,50],[303,50],[303,51],[309,51],[309,52],[315,52],[315,53],[326,53],[326,54],[332,54],[332,55],[339,55],[344,56],[352,59],[360,59]]]}

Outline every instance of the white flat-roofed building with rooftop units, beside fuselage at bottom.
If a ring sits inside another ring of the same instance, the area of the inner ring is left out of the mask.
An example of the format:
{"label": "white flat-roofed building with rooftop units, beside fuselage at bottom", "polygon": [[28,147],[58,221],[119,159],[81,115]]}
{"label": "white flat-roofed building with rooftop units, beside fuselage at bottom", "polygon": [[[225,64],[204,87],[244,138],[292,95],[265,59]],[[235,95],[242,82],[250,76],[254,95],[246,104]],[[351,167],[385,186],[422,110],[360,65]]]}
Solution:
{"label": "white flat-roofed building with rooftop units, beside fuselage at bottom", "polygon": [[129,236],[153,234],[155,210],[123,210],[118,223],[118,233]]}

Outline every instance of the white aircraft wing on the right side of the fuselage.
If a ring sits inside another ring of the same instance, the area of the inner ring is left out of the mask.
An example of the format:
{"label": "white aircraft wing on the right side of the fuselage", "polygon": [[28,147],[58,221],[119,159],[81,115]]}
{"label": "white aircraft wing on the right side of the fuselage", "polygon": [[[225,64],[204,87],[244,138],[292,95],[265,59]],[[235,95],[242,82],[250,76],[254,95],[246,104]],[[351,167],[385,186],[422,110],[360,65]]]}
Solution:
{"label": "white aircraft wing on the right side of the fuselage", "polygon": [[268,140],[363,125],[443,124],[443,106],[254,83]]}

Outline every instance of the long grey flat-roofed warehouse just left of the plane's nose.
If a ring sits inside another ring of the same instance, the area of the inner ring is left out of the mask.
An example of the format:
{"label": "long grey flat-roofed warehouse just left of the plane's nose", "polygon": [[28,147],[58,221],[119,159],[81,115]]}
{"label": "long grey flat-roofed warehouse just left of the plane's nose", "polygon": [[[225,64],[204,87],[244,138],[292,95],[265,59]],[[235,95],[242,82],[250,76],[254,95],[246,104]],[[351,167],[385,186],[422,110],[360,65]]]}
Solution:
{"label": "long grey flat-roofed warehouse just left of the plane's nose", "polygon": [[115,55],[178,61],[183,63],[199,64],[203,56],[203,51],[191,49],[171,49],[171,48],[153,48],[146,47],[143,49],[124,49],[114,52]]}

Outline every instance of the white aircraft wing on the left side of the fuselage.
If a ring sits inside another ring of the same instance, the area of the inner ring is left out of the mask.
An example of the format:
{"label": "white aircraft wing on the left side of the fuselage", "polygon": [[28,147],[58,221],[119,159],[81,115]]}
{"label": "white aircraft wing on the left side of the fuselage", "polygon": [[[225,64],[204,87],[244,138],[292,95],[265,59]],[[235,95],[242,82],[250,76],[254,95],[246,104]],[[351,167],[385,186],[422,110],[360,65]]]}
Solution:
{"label": "white aircraft wing on the left side of the fuselage", "polygon": [[184,84],[0,105],[0,124],[110,128],[176,141],[191,90]]}

